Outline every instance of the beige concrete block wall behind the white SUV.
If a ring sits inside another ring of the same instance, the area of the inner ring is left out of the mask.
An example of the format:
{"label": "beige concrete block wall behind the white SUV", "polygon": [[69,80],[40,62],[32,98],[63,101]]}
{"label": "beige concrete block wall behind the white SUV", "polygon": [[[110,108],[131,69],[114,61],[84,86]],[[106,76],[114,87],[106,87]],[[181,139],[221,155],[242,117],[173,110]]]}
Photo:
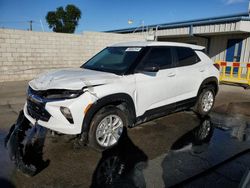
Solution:
{"label": "beige concrete block wall behind the white SUV", "polygon": [[107,45],[143,40],[133,34],[43,33],[0,29],[0,82],[30,80],[39,73],[79,67]]}

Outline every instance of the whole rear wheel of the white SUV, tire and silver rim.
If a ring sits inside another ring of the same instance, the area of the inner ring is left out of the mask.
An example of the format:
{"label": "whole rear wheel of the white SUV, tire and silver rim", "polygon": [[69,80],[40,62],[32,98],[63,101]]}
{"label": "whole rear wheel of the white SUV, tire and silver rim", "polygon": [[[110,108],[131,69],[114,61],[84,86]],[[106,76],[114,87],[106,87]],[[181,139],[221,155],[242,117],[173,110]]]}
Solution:
{"label": "whole rear wheel of the white SUV, tire and silver rim", "polygon": [[201,116],[207,115],[213,108],[215,92],[213,87],[206,87],[199,94],[194,111]]}

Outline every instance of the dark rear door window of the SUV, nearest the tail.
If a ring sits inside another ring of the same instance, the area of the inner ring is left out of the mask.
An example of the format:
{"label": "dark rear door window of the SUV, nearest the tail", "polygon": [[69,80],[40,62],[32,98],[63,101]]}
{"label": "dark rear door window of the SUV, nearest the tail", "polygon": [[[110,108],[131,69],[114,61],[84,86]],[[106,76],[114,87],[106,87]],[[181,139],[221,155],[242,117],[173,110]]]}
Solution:
{"label": "dark rear door window of the SUV, nearest the tail", "polygon": [[193,65],[200,61],[200,58],[191,48],[176,48],[177,67]]}

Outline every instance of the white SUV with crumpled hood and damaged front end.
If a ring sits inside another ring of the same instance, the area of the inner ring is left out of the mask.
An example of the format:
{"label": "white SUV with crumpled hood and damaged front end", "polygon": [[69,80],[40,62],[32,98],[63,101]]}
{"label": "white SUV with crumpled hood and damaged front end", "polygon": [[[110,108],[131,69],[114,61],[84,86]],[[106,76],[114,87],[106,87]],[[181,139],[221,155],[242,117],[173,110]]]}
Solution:
{"label": "white SUV with crumpled hood and damaged front end", "polygon": [[105,48],[80,68],[56,70],[29,82],[24,114],[98,149],[116,144],[124,127],[189,109],[206,115],[219,71],[204,47],[129,42]]}

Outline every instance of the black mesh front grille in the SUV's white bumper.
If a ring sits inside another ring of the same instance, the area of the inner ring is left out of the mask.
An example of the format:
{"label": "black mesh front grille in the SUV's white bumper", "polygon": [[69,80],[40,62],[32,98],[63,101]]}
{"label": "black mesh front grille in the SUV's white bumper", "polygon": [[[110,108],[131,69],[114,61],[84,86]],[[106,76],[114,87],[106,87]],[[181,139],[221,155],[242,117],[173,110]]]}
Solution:
{"label": "black mesh front grille in the SUV's white bumper", "polygon": [[36,120],[49,121],[51,117],[45,109],[45,103],[33,102],[30,99],[27,99],[27,111],[29,115]]}

